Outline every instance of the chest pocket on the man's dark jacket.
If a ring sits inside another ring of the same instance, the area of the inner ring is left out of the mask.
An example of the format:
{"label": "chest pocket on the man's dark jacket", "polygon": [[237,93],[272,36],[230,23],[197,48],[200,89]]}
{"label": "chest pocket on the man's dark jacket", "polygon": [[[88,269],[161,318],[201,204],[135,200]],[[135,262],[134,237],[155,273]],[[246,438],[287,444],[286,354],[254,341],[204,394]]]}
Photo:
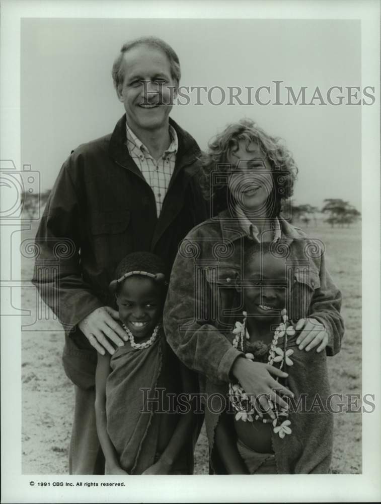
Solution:
{"label": "chest pocket on the man's dark jacket", "polygon": [[131,214],[128,209],[94,213],[91,235],[94,255],[100,269],[114,270],[133,249]]}

